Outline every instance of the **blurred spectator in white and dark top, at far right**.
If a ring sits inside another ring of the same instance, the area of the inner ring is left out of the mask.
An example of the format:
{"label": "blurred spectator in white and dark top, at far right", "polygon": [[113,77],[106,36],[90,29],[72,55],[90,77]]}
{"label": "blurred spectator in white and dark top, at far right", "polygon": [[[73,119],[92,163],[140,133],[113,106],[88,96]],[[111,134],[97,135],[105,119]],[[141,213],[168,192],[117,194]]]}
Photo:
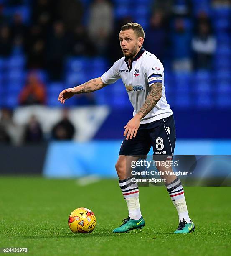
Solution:
{"label": "blurred spectator in white and dark top, at far right", "polygon": [[212,57],[216,51],[216,38],[211,33],[209,23],[202,21],[193,36],[193,64],[195,69],[211,69]]}

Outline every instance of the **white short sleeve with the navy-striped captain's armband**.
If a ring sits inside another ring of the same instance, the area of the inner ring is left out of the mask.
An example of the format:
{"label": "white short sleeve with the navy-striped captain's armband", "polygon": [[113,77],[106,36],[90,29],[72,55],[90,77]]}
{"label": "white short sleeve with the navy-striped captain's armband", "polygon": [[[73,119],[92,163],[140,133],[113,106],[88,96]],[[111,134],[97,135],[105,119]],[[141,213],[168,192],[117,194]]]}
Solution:
{"label": "white short sleeve with the navy-striped captain's armband", "polygon": [[148,81],[148,86],[154,83],[163,81],[164,68],[160,61],[151,60],[145,64],[145,74]]}

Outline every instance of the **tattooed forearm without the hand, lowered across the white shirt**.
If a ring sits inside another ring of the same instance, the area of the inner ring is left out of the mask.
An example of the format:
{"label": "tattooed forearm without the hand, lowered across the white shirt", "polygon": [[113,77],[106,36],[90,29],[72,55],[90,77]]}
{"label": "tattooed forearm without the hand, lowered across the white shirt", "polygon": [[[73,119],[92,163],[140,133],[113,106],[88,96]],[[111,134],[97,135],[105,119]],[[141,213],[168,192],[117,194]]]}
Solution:
{"label": "tattooed forearm without the hand, lowered across the white shirt", "polygon": [[160,100],[162,95],[162,83],[154,83],[150,86],[150,92],[149,95],[147,95],[147,98],[145,100],[144,105],[142,108],[138,111],[138,115],[141,116],[141,118],[145,117],[152,108],[155,107],[157,102]]}

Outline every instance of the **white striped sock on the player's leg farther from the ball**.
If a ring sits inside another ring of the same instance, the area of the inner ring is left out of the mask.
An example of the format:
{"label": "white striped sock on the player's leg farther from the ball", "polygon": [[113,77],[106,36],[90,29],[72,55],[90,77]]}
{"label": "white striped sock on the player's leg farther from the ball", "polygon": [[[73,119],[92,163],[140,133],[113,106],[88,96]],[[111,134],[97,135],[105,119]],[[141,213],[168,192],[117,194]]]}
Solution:
{"label": "white striped sock on the player's leg farther from the ball", "polygon": [[175,205],[179,215],[179,221],[185,220],[187,223],[191,223],[188,216],[188,209],[185,201],[185,194],[180,179],[176,178],[173,182],[166,184],[167,191],[170,198]]}

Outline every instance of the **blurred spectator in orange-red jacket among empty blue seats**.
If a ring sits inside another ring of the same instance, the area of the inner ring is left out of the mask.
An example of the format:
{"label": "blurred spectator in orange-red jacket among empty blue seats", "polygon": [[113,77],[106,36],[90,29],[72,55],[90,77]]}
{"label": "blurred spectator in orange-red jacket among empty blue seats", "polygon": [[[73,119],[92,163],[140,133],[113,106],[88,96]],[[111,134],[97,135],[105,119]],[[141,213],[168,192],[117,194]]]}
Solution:
{"label": "blurred spectator in orange-red jacket among empty blue seats", "polygon": [[27,82],[19,95],[20,105],[33,105],[46,103],[45,85],[39,80],[36,72],[28,75]]}

